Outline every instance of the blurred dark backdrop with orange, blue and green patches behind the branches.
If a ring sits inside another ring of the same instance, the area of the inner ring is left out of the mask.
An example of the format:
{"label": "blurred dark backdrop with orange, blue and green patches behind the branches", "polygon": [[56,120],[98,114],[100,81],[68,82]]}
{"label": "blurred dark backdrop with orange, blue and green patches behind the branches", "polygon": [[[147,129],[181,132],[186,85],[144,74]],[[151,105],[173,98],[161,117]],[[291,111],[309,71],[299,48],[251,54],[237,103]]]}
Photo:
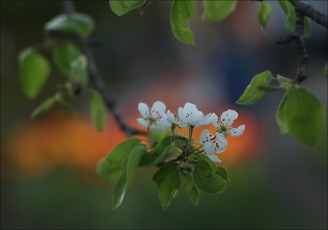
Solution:
{"label": "blurred dark backdrop with orange, blue and green patches behind the branches", "polygon": [[[99,159],[126,138],[111,114],[104,132],[97,132],[85,93],[72,101],[78,112],[54,107],[31,120],[33,108],[65,77],[52,63],[46,87],[32,101],[18,80],[18,52],[42,42],[43,25],[62,12],[61,1],[1,1],[1,229],[327,229],[327,124],[317,146],[308,148],[279,134],[275,112],[282,91],[250,106],[235,104],[262,71],[296,74],[297,46],[275,44],[290,33],[285,15],[276,1],[267,2],[272,12],[262,35],[258,2],[239,1],[226,20],[210,24],[200,19],[196,1],[196,45],[187,46],[172,34],[171,1],[121,17],[109,1],[74,1],[77,11],[96,21],[94,57],[129,124],[137,127],[139,102],[160,100],[174,113],[186,102],[204,114],[235,109],[236,125],[246,126],[219,156],[231,181],[222,194],[201,194],[193,206],[182,186],[162,211],[151,180],[156,168],[140,169],[113,211],[113,184],[95,174]],[[311,4],[327,14],[327,1]],[[311,24],[304,85],[327,109],[327,30]],[[196,140],[202,130],[195,129]]]}

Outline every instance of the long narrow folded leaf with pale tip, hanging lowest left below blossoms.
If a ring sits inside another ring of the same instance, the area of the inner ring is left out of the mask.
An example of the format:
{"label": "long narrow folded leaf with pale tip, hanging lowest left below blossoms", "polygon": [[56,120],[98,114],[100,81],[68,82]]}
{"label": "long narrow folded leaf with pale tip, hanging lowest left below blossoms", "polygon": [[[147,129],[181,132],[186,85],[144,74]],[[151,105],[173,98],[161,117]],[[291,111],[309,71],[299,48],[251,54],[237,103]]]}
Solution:
{"label": "long narrow folded leaf with pale tip, hanging lowest left below blossoms", "polygon": [[122,203],[125,191],[130,185],[134,177],[134,173],[138,168],[141,156],[144,154],[145,151],[145,145],[137,146],[132,150],[129,158],[124,161],[122,166],[122,172],[118,177],[113,190],[114,209],[116,209]]}

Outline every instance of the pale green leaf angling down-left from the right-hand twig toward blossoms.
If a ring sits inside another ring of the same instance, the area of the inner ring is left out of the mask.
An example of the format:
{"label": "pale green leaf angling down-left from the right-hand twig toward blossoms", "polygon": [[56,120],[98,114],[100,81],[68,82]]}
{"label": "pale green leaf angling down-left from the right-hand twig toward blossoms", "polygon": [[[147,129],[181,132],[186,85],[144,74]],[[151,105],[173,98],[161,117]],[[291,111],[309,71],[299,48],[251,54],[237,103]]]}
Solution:
{"label": "pale green leaf angling down-left from the right-hand twig toward blossoms", "polygon": [[253,104],[258,101],[262,95],[263,91],[258,89],[258,86],[267,86],[271,81],[271,72],[264,71],[260,74],[255,75],[251,83],[246,87],[245,92],[236,101],[237,104]]}

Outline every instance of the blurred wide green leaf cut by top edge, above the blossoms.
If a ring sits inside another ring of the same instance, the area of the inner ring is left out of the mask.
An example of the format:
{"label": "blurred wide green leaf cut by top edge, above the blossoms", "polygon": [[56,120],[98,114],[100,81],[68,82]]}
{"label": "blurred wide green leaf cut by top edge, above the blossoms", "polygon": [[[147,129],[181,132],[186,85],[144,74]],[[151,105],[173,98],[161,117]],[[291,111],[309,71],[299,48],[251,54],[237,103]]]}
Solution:
{"label": "blurred wide green leaf cut by top edge, above the blossoms", "polygon": [[208,22],[219,22],[236,9],[237,1],[205,0],[202,19]]}

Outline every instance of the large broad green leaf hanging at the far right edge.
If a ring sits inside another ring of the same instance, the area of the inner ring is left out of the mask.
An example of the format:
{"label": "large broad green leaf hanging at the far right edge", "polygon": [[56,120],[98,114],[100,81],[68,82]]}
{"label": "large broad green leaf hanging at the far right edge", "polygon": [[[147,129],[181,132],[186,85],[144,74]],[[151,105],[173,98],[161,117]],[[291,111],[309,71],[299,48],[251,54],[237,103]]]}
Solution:
{"label": "large broad green leaf hanging at the far right edge", "polygon": [[291,88],[285,102],[284,120],[291,135],[315,146],[325,123],[325,109],[305,88]]}

